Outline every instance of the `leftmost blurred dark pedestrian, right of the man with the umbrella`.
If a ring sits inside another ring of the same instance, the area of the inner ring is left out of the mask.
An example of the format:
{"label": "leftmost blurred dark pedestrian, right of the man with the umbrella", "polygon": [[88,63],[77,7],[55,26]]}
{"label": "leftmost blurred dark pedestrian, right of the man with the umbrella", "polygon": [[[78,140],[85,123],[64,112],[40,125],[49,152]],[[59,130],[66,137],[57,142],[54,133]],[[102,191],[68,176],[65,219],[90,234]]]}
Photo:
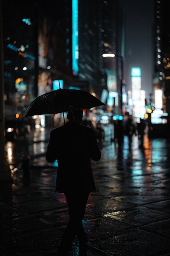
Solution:
{"label": "leftmost blurred dark pedestrian, right of the man with the umbrella", "polygon": [[121,149],[124,141],[124,127],[121,120],[115,120],[114,122],[114,136],[115,136],[115,147],[116,143],[118,148]]}

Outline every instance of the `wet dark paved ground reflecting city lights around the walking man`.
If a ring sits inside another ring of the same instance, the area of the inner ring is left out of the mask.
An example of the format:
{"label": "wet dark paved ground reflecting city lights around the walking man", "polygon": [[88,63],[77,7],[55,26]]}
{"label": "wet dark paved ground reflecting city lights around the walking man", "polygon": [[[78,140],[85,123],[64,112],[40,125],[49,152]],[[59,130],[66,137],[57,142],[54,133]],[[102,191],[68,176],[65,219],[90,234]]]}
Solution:
{"label": "wet dark paved ground reflecting city lights around the walking man", "polygon": [[[2,255],[57,256],[68,208],[64,195],[55,194],[57,162],[45,160],[49,134],[39,129],[6,142],[13,181],[1,184]],[[87,256],[170,255],[170,145],[147,135],[144,142],[140,148],[133,137],[130,150],[125,136],[118,150],[108,134],[99,143],[102,158],[92,161],[97,190],[83,220]],[[25,153],[31,159],[22,165]],[[77,239],[68,255],[79,255]]]}

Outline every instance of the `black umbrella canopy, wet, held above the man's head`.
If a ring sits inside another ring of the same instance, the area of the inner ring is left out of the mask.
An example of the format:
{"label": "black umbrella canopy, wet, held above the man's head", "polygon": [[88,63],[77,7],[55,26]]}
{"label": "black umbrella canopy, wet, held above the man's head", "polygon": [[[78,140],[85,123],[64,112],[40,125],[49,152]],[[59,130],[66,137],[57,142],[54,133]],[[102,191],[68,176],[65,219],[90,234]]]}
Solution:
{"label": "black umbrella canopy, wet, held above the man's head", "polygon": [[22,116],[57,114],[70,110],[91,109],[101,105],[105,104],[87,91],[60,88],[37,97]]}

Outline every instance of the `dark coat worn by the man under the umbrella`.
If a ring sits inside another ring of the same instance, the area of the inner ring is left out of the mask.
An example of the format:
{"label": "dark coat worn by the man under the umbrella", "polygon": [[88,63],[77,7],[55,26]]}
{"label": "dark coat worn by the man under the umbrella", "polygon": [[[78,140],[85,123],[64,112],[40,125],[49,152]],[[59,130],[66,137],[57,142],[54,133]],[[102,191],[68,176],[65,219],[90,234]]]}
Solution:
{"label": "dark coat worn by the man under the umbrella", "polygon": [[99,161],[100,158],[92,128],[71,121],[51,131],[46,160],[58,161],[55,190],[58,193],[95,191],[91,159]]}

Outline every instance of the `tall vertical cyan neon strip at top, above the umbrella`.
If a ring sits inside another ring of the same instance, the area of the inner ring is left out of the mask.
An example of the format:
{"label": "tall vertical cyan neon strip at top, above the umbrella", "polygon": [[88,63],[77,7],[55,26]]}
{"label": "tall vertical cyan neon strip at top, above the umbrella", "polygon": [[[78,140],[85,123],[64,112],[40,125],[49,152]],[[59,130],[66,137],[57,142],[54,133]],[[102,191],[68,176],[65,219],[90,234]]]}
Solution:
{"label": "tall vertical cyan neon strip at top, above the umbrella", "polygon": [[78,0],[72,0],[72,72],[78,75],[79,66]]}

